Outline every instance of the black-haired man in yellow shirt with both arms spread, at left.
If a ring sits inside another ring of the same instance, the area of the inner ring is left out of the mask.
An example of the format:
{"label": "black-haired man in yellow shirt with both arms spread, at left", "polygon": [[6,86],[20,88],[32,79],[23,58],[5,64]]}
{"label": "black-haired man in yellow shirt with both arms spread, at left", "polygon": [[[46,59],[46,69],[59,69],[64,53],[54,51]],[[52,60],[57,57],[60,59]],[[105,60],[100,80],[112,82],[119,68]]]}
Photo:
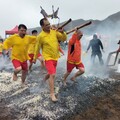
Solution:
{"label": "black-haired man in yellow shirt with both arms spread, at left", "polygon": [[18,26],[18,34],[14,34],[7,38],[3,43],[3,49],[11,50],[11,60],[15,68],[13,74],[13,80],[17,80],[17,74],[22,70],[22,83],[24,84],[28,65],[27,60],[30,59],[28,56],[28,47],[30,43],[36,41],[35,36],[26,35],[27,27],[24,24]]}

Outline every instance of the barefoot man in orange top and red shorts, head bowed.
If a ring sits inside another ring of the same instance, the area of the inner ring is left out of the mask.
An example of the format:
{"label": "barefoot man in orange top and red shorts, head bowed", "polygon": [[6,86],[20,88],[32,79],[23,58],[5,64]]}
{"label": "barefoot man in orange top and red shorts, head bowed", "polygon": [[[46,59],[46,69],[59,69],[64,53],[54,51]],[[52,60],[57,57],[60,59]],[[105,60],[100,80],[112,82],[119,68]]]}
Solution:
{"label": "barefoot man in orange top and red shorts, head bowed", "polygon": [[71,77],[71,80],[76,81],[76,77],[82,75],[85,72],[84,65],[81,61],[81,38],[83,33],[80,30],[73,33],[71,39],[68,42],[68,56],[67,56],[67,71],[62,77],[64,86],[66,86],[67,77],[76,67],[78,71]]}

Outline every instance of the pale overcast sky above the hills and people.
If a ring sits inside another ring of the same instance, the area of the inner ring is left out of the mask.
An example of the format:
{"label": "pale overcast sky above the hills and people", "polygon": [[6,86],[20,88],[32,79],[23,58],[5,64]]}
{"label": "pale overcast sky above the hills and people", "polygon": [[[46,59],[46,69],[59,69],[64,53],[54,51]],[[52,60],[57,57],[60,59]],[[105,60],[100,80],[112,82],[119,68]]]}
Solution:
{"label": "pale overcast sky above the hills and people", "polygon": [[52,5],[55,10],[59,7],[60,22],[69,18],[103,20],[120,11],[120,0],[0,0],[0,36],[4,38],[5,30],[21,23],[27,28],[40,26],[40,6],[51,14]]}

